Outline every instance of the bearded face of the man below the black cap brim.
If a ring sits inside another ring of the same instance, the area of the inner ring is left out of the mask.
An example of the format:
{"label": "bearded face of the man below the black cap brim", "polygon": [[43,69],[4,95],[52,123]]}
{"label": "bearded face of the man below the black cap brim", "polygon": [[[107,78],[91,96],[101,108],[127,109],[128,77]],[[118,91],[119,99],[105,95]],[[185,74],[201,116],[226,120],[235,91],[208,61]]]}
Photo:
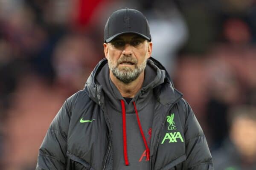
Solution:
{"label": "bearded face of the man below the black cap brim", "polygon": [[104,43],[105,57],[113,75],[128,84],[143,73],[151,56],[152,42],[137,34],[123,34]]}

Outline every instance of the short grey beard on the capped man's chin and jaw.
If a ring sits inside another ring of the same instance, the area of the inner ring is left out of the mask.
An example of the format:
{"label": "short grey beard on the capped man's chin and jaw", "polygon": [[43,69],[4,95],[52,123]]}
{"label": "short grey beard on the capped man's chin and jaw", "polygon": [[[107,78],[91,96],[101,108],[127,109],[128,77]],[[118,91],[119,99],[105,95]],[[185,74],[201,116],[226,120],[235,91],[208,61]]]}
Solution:
{"label": "short grey beard on the capped man's chin and jaw", "polygon": [[146,64],[147,64],[147,60],[145,59],[145,61],[141,65],[135,65],[134,70],[128,67],[119,69],[117,65],[116,66],[113,65],[113,62],[111,60],[108,61],[108,66],[110,71],[112,71],[113,75],[117,79],[119,79],[121,82],[124,82],[125,84],[128,84],[136,80],[140,76],[140,74],[144,71]]}

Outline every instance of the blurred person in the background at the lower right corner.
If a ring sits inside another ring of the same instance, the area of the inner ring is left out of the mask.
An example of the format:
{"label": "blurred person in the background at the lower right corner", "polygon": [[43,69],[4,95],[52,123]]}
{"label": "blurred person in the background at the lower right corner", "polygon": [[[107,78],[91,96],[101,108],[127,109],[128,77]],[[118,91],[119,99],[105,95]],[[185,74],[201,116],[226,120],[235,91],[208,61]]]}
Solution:
{"label": "blurred person in the background at the lower right corner", "polygon": [[256,108],[238,106],[229,111],[230,131],[212,154],[217,170],[256,169]]}

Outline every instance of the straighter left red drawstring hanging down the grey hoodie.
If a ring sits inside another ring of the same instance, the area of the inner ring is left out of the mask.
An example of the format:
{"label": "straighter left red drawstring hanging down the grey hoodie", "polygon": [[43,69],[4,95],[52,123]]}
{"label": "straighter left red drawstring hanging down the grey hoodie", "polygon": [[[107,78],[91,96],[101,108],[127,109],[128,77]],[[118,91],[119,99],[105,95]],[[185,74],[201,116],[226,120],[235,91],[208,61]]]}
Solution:
{"label": "straighter left red drawstring hanging down the grey hoodie", "polygon": [[124,147],[124,158],[125,165],[129,165],[128,154],[127,154],[127,139],[126,139],[126,113],[125,113],[125,102],[121,100],[122,105],[122,122],[123,122],[123,147]]}

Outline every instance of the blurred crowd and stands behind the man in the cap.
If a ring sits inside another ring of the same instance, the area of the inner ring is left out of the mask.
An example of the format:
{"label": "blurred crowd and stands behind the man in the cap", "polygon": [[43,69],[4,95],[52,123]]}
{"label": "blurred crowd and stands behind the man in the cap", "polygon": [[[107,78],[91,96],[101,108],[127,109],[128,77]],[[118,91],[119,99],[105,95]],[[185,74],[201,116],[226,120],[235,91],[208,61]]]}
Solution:
{"label": "blurred crowd and stands behind the man in the cap", "polygon": [[124,7],[147,17],[152,57],[192,106],[215,170],[256,170],[256,0],[0,0],[0,169],[35,169]]}

